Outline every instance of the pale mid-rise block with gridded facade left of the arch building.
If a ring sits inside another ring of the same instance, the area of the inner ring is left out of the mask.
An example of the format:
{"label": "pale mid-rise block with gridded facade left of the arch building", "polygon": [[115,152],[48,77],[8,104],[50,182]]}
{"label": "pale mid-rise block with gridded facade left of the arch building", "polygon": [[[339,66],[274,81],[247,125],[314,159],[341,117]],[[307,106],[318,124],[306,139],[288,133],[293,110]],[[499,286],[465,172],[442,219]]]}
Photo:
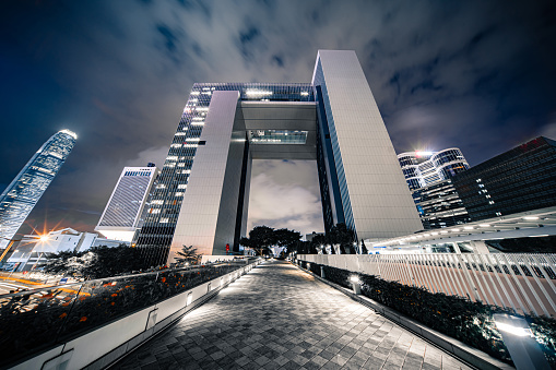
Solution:
{"label": "pale mid-rise block with gridded facade left of the arch building", "polygon": [[151,163],[146,167],[123,167],[95,231],[108,239],[132,241],[146,212],[159,212],[150,204],[156,175],[157,168]]}

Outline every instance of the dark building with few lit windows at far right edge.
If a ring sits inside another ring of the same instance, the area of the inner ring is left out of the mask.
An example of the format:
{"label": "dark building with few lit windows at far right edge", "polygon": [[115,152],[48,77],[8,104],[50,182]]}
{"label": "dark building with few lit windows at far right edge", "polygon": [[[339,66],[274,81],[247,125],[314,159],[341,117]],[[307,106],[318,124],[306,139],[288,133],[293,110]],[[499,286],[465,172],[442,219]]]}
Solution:
{"label": "dark building with few lit windows at far right edge", "polygon": [[536,138],[452,180],[472,220],[556,205],[556,142]]}

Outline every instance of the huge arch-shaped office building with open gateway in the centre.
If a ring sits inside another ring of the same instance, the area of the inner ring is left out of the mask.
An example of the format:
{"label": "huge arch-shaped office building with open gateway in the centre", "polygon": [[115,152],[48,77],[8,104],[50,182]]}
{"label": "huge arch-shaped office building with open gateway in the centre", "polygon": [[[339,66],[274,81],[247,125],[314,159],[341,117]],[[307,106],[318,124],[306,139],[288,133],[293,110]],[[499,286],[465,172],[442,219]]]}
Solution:
{"label": "huge arch-shaped office building with open gateway in the centre", "polygon": [[421,229],[395,152],[354,51],[320,50],[312,83],[197,83],[138,247],[145,263],[182,246],[233,251],[246,234],[252,159],[317,160],[326,229],[358,239]]}

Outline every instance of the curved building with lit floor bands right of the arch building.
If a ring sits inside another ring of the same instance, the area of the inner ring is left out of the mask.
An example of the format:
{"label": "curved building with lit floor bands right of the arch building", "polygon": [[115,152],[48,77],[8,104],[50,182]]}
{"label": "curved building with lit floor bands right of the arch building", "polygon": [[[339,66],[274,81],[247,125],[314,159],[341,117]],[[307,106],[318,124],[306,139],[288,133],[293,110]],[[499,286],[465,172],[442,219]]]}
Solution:
{"label": "curved building with lit floor bands right of the arch building", "polygon": [[461,151],[407,152],[398,155],[425,229],[471,220],[450,178],[469,168]]}

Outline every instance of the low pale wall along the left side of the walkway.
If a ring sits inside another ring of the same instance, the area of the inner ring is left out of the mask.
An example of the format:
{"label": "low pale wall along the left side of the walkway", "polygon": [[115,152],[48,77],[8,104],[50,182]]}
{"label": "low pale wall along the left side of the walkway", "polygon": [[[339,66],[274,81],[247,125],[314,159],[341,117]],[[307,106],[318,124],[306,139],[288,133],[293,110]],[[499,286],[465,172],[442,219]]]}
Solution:
{"label": "low pale wall along the left side of the walkway", "polygon": [[259,261],[50,348],[12,369],[104,369],[253,268]]}

